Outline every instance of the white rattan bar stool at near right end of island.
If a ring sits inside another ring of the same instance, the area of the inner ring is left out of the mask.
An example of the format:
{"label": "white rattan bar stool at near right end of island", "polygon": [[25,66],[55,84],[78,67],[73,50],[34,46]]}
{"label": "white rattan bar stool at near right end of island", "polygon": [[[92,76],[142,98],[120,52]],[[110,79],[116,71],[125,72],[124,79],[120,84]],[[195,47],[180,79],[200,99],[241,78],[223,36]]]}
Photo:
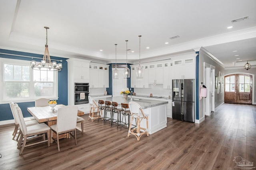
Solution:
{"label": "white rattan bar stool at near right end of island", "polygon": [[[148,114],[145,114],[141,106],[136,102],[129,102],[129,108],[132,115],[132,119],[129,126],[128,137],[130,135],[136,136],[137,140],[140,141],[140,137],[144,134],[148,136]],[[136,127],[132,128],[132,121],[136,120]],[[141,121],[146,120],[146,128],[140,127]],[[132,129],[131,129],[132,128]],[[141,133],[141,131],[143,131]]]}

